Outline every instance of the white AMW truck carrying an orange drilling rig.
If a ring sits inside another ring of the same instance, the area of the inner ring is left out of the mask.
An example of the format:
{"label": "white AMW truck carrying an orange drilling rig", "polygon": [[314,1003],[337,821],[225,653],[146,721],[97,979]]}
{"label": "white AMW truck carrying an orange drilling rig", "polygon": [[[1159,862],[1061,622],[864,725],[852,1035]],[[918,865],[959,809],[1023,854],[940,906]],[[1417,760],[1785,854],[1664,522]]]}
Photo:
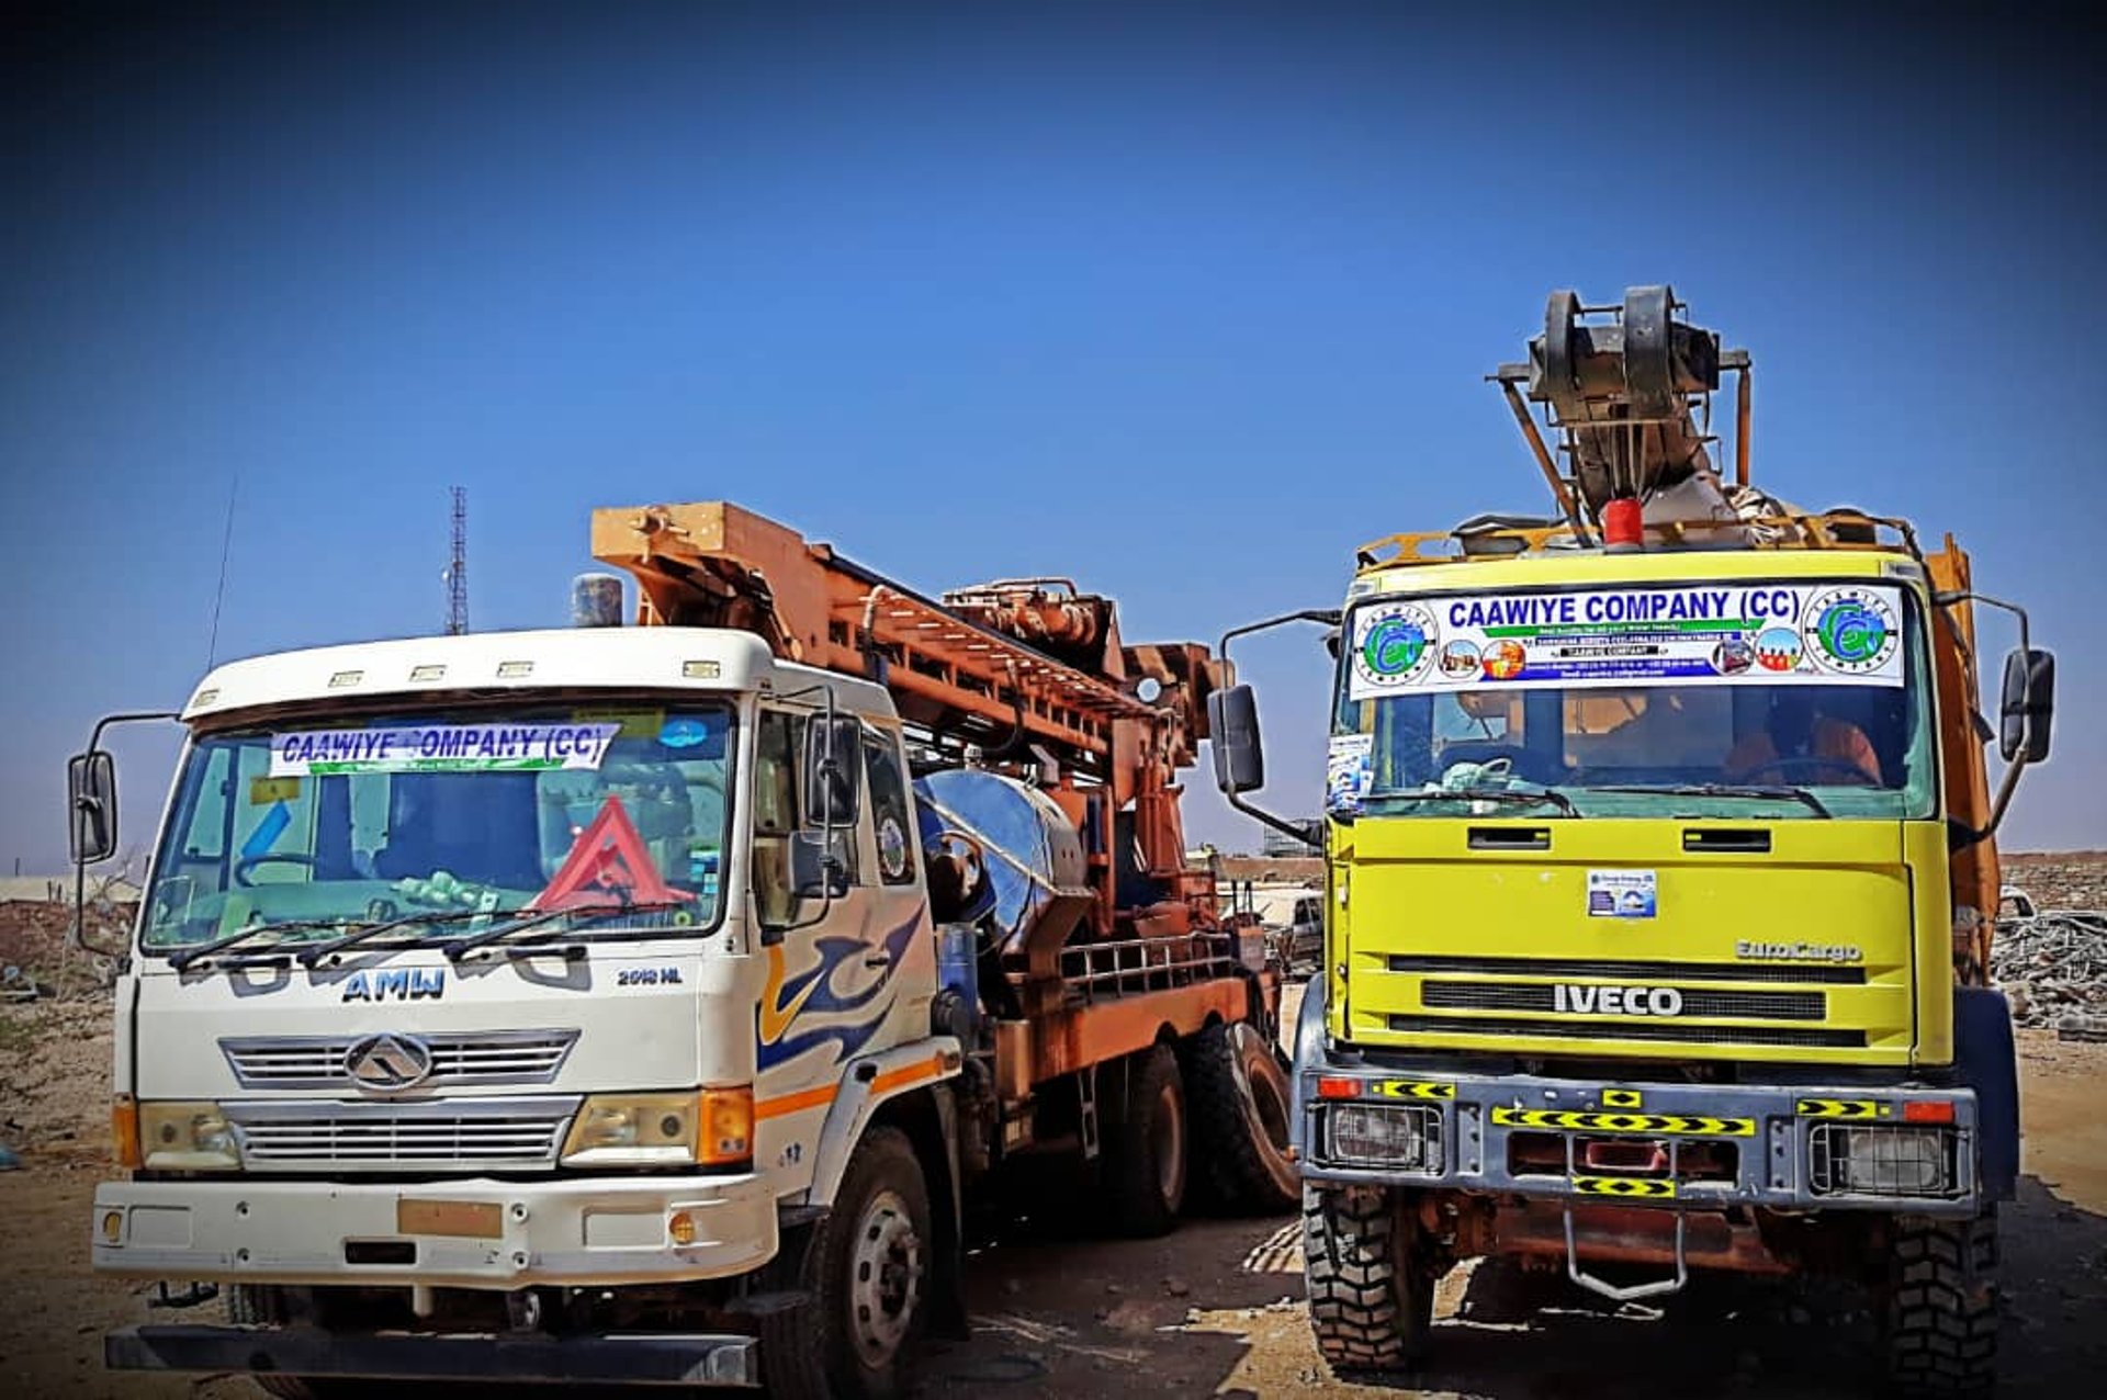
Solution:
{"label": "white AMW truck carrying an orange drilling rig", "polygon": [[1180,859],[1205,648],[723,503],[594,543],[645,625],[259,657],[183,707],[91,1236],[230,1316],[110,1366],[885,1396],[1018,1158],[1136,1234],[1188,1173],[1294,1202],[1279,979]]}

